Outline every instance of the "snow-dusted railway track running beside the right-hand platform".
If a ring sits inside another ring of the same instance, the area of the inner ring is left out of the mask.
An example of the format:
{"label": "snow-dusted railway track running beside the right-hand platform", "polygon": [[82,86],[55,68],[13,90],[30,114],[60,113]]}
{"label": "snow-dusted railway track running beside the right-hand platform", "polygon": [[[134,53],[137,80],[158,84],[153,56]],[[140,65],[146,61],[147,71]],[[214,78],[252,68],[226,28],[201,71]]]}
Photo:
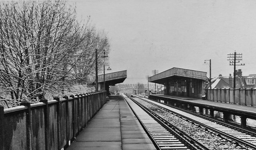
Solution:
{"label": "snow-dusted railway track running beside the right-hand platform", "polygon": [[[256,137],[254,132],[250,132],[238,127],[234,127],[226,124],[225,126],[223,124],[216,123],[216,120],[206,120],[206,118],[200,118],[198,116],[192,115],[193,113],[184,110],[178,110],[177,108],[172,108],[170,106],[166,106],[165,104],[155,102],[150,100],[150,103],[148,102],[147,98],[140,98],[136,97],[134,98],[137,101],[143,100],[144,102],[150,105],[154,105],[153,110],[161,109],[165,112],[168,112],[169,115],[176,116],[178,118],[182,118],[182,120],[185,120],[186,122],[189,122],[190,124],[193,124],[194,126],[198,126],[200,128],[203,128],[204,130],[210,132],[211,134],[215,134],[216,136],[221,137],[221,140],[224,142],[225,140],[227,142],[231,142],[234,145],[234,148],[237,147],[237,149],[256,149]],[[144,104],[145,105],[145,104]],[[160,105],[160,106],[159,106]],[[147,106],[150,107],[150,106]],[[151,107],[152,109],[152,107]],[[159,110],[157,110],[159,111]],[[226,149],[228,149],[226,147]],[[232,150],[232,148],[230,148]]]}

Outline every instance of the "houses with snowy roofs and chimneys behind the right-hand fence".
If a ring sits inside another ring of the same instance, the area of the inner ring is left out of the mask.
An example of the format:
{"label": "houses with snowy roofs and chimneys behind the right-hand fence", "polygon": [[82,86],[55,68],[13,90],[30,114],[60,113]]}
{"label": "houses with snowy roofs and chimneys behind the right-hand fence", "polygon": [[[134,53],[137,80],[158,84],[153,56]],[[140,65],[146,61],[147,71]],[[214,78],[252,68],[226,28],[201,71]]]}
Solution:
{"label": "houses with snowy roofs and chimneys behind the right-hand fence", "polygon": [[[249,76],[242,76],[242,70],[236,70],[236,88],[254,88],[256,89],[255,84],[256,74],[250,74]],[[210,88],[208,83],[206,88]],[[220,76],[212,79],[212,88],[234,88],[234,76],[231,74],[229,76]]]}

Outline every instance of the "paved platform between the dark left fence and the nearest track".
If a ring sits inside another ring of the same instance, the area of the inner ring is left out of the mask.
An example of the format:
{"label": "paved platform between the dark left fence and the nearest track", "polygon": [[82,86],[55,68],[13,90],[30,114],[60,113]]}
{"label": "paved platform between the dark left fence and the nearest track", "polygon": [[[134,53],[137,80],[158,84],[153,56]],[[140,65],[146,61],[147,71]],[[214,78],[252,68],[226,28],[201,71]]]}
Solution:
{"label": "paved platform between the dark left fence and the nearest track", "polygon": [[121,95],[109,96],[67,150],[156,150]]}

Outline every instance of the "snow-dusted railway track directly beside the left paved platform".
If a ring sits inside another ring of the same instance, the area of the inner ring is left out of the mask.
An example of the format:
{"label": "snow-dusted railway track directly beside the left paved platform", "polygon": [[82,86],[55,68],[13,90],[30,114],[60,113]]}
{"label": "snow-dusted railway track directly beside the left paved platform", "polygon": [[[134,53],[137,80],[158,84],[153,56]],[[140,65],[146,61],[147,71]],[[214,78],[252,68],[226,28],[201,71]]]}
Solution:
{"label": "snow-dusted railway track directly beside the left paved platform", "polygon": [[132,98],[124,98],[158,150],[210,150]]}

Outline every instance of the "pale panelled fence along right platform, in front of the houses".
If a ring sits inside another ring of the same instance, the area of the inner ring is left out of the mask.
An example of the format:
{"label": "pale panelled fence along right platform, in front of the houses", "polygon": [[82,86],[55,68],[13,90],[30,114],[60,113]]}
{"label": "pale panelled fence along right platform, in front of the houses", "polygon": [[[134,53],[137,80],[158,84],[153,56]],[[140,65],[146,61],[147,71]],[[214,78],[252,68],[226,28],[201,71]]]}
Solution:
{"label": "pale panelled fence along right platform, in front of the houses", "polygon": [[207,100],[256,106],[256,89],[205,89]]}

